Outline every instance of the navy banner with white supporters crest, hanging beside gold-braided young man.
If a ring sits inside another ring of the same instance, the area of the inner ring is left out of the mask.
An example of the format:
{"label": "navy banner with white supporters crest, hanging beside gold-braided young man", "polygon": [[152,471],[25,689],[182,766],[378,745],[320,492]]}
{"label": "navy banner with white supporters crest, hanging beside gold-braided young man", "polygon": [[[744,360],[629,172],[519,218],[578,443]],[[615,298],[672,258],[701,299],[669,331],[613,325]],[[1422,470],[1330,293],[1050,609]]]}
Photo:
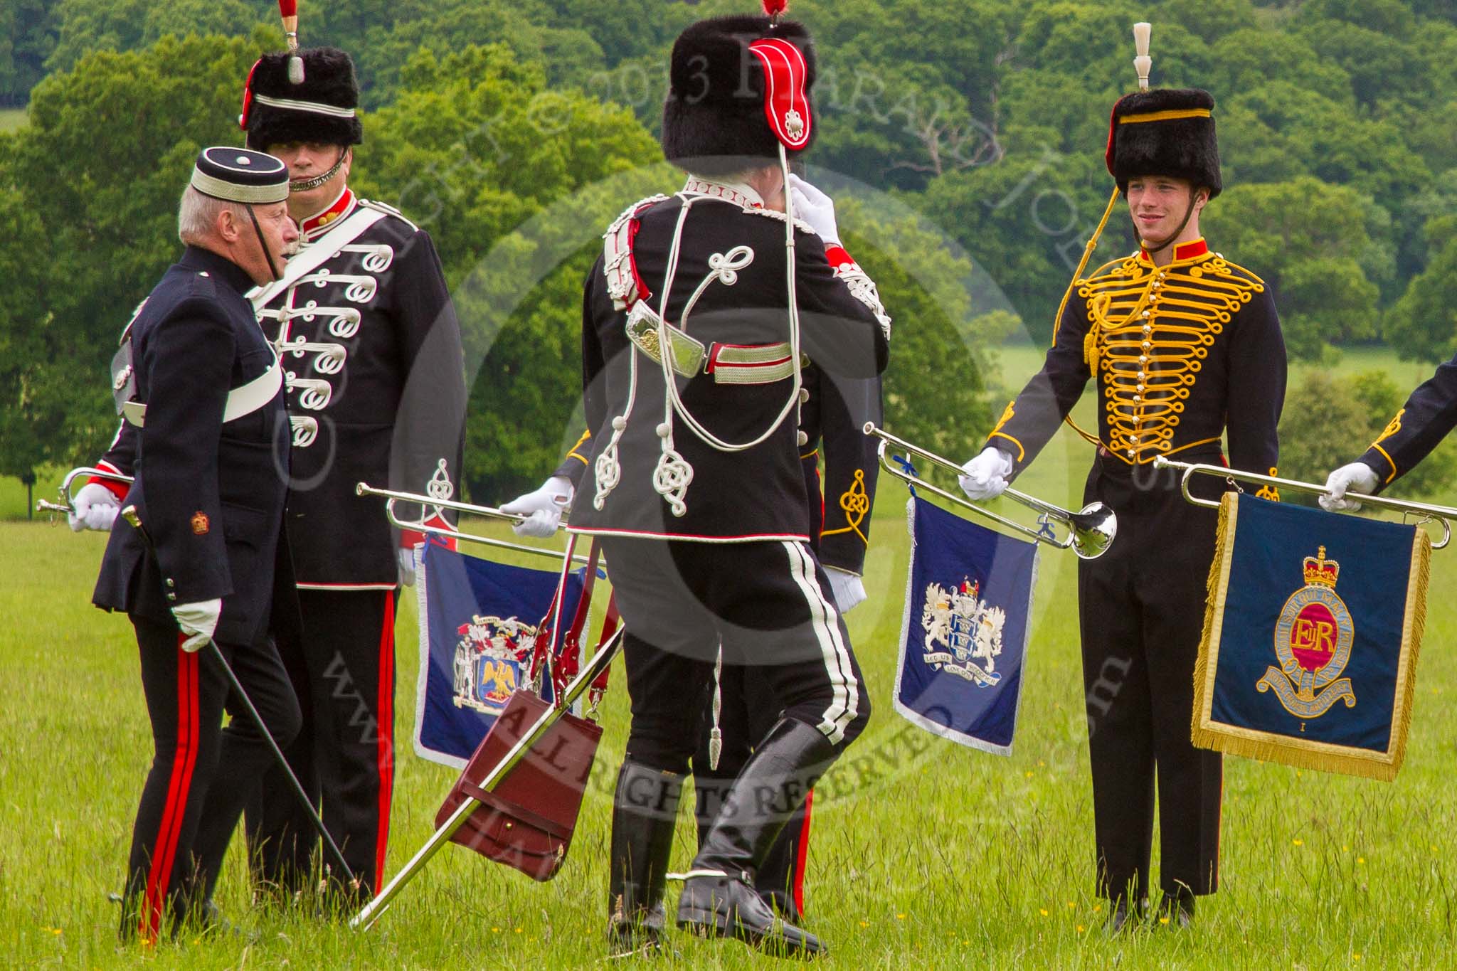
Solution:
{"label": "navy banner with white supporters crest, hanging beside gold-braided young man", "polygon": [[954,742],[1011,754],[1037,544],[925,499],[906,504],[911,571],[895,706]]}

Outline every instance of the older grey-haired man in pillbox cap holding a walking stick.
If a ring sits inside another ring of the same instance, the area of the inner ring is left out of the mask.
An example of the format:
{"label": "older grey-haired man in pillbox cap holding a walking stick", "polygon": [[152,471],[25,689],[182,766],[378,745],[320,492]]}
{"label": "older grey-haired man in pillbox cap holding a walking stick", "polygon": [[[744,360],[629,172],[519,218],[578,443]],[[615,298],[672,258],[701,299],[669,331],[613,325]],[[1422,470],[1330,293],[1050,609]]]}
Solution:
{"label": "older grey-haired man in pillbox cap holding a walking stick", "polygon": [[[223,850],[268,763],[248,719],[221,728],[229,683],[198,651],[216,639],[275,741],[299,708],[268,639],[287,495],[283,377],[243,293],[277,278],[299,234],[288,173],[272,156],[203,151],[182,197],[182,258],[133,320],[124,409],[136,479],[95,603],[124,610],[141,652],[156,756],[133,827],[122,936],[152,942],[203,917]],[[143,533],[144,530],[144,533]],[[284,566],[286,569],[286,566]],[[284,576],[287,579],[287,575]],[[236,697],[227,700],[233,710]]]}

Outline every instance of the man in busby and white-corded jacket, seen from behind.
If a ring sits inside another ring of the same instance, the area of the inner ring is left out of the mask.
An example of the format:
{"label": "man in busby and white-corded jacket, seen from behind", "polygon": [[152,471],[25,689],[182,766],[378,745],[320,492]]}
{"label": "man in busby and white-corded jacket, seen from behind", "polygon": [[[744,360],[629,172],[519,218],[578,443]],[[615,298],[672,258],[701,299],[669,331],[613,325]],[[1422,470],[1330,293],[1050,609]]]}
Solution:
{"label": "man in busby and white-corded jacket, seen from behind", "polygon": [[[797,199],[814,51],[798,23],[733,16],[673,47],[663,148],[688,175],[629,207],[583,297],[592,453],[571,528],[600,537],[618,607],[632,726],[618,774],[609,939],[657,946],[682,779],[718,649],[753,667],[779,718],[707,827],[678,924],[777,951],[820,949],[778,920],[755,873],[814,780],[864,728],[868,699],[830,582],[810,549],[800,466],[803,360],[873,379],[889,317],[825,210]],[[812,211],[813,210],[813,211]],[[817,231],[822,230],[822,231]],[[833,377],[829,377],[833,380]]]}

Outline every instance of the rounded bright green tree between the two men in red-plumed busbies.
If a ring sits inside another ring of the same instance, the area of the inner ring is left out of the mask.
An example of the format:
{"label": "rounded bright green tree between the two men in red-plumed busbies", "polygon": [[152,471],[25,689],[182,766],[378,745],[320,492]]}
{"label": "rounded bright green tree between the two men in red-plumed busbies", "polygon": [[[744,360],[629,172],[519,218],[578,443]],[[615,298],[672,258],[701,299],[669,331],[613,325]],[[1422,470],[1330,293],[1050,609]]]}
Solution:
{"label": "rounded bright green tree between the two men in red-plumed busbies", "polygon": [[[631,112],[549,89],[504,45],[421,49],[401,83],[369,121],[353,182],[398,199],[436,240],[475,379],[465,477],[501,501],[574,440],[581,280],[603,227],[651,194],[641,170],[661,156]],[[643,191],[613,198],[605,185]]]}

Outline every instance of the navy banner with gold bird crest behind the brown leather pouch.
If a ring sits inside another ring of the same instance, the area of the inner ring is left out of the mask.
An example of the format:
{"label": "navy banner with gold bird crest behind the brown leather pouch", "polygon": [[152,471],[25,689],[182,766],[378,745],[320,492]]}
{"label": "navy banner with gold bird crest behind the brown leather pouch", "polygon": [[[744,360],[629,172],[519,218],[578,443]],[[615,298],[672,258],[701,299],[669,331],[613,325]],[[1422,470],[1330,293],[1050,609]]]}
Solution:
{"label": "navy banner with gold bird crest behind the brown leather pouch", "polygon": [[[420,603],[415,754],[463,769],[511,691],[526,683],[536,627],[551,606],[557,571],[492,563],[425,543]],[[581,597],[581,571],[567,579],[562,623]]]}

